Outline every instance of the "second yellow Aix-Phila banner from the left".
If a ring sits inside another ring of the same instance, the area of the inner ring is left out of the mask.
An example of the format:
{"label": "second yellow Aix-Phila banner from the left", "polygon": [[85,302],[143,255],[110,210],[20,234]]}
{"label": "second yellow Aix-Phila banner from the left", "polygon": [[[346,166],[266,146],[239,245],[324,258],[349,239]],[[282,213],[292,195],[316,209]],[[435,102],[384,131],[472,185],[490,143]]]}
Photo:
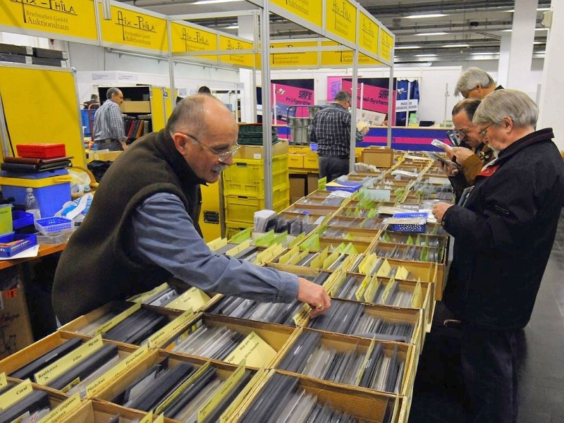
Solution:
{"label": "second yellow Aix-Phila banner from the left", "polygon": [[[102,41],[168,53],[166,19],[146,15],[128,8],[111,6],[111,20],[102,19]],[[102,16],[102,4],[99,5]]]}

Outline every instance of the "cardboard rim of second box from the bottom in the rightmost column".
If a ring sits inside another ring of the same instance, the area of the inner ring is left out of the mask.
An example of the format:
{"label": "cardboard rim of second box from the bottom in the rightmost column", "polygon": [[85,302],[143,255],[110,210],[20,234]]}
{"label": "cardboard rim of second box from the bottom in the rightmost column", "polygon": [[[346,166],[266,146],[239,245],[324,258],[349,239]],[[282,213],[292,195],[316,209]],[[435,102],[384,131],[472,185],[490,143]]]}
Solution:
{"label": "cardboard rim of second box from the bottom in the rightmost column", "polygon": [[[283,374],[298,375],[297,373],[280,369],[279,365],[281,364],[284,357],[286,357],[290,349],[293,348],[295,342],[298,341],[300,335],[308,331],[311,332],[312,329],[308,329],[308,328],[298,329],[298,331],[296,331],[296,333],[294,334],[291,342],[288,342],[283,348],[283,350],[281,350],[281,352],[278,354],[278,360],[274,363],[274,368],[277,369],[278,372],[281,372]],[[405,362],[401,388],[398,393],[402,396],[406,396],[408,393],[411,395],[410,389],[412,390],[413,383],[415,381],[415,373],[416,373],[417,359],[418,359],[418,356],[415,354],[416,352],[415,347],[413,345],[408,345],[405,343],[397,343],[392,341],[379,341],[374,339],[371,340],[367,338],[359,339],[353,336],[343,335],[341,333],[331,333],[331,332],[321,332],[320,343],[321,345],[324,346],[324,348],[333,349],[338,351],[339,353],[347,353],[357,349],[363,355],[366,355],[367,353],[372,351],[372,348],[374,347],[372,343],[382,344],[384,354],[386,355],[390,355],[392,353],[393,348],[398,348],[398,357],[400,357],[400,360],[402,362]],[[305,374],[299,374],[299,375],[304,379],[310,379],[314,381],[324,380],[324,379],[314,378],[312,376],[307,376]],[[375,389],[372,388],[364,388],[357,385],[347,385],[340,382],[332,382],[332,381],[326,381],[326,382],[338,386],[349,386],[359,391],[367,391],[367,392],[376,391]],[[384,391],[379,391],[379,392],[384,392]]]}

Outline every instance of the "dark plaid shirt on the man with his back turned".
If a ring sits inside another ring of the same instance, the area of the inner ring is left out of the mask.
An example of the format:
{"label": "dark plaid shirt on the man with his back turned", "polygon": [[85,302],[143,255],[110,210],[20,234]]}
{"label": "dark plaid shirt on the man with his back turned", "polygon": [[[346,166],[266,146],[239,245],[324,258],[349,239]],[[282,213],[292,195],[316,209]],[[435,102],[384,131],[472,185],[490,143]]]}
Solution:
{"label": "dark plaid shirt on the man with his back turned", "polygon": [[[357,142],[364,134],[356,131]],[[317,142],[319,156],[349,157],[350,113],[341,104],[330,104],[314,116],[309,142]]]}

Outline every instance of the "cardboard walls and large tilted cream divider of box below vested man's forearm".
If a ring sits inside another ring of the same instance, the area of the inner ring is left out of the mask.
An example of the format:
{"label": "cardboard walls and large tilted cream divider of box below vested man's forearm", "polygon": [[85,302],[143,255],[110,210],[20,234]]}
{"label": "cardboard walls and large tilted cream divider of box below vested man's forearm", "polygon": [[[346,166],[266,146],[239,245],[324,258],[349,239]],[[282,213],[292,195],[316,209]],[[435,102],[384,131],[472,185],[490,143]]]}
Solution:
{"label": "cardboard walls and large tilted cream divider of box below vested man's forearm", "polygon": [[202,325],[215,327],[225,326],[227,329],[245,336],[245,339],[225,360],[209,359],[210,361],[238,363],[243,357],[246,357],[247,367],[252,369],[271,367],[276,355],[278,355],[278,351],[281,350],[295,331],[295,328],[292,326],[204,313],[190,321],[190,324],[178,332],[178,336],[169,338],[168,341],[161,345],[161,348],[176,353],[177,355],[194,357],[194,355],[173,351],[173,348]]}

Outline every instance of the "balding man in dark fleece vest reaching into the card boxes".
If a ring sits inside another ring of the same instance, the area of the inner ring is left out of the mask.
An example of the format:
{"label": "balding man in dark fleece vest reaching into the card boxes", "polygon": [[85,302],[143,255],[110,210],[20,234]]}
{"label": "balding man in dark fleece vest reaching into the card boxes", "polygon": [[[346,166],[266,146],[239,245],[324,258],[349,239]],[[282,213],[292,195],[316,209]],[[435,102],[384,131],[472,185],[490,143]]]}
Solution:
{"label": "balding man in dark fleece vest reaching into the card boxes", "polygon": [[141,137],[109,168],[57,266],[53,305],[64,323],[172,276],[207,292],[262,302],[331,305],[304,278],[215,255],[197,224],[200,184],[233,164],[238,125],[215,97],[187,97],[164,130]]}

